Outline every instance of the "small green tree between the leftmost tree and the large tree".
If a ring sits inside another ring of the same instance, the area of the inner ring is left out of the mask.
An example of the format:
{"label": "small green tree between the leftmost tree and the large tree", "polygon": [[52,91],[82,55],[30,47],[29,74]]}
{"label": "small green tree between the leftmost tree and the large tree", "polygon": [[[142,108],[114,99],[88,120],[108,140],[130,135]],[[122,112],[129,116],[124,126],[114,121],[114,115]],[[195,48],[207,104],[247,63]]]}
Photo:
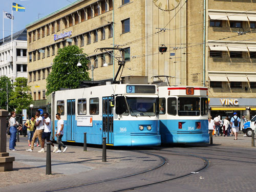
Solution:
{"label": "small green tree between the leftmost tree and the large tree", "polygon": [[14,91],[10,95],[10,106],[16,110],[17,114],[22,114],[23,109],[29,110],[32,103],[31,91],[28,86],[28,79],[25,77],[17,77],[13,83]]}

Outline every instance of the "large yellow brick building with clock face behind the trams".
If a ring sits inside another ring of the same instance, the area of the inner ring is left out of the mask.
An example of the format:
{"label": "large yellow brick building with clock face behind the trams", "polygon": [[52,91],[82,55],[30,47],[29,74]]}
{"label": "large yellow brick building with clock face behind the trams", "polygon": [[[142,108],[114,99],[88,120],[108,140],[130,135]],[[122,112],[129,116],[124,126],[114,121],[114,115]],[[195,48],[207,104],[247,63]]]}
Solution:
{"label": "large yellow brick building with clock face behind the trams", "polygon": [[[94,80],[113,78],[118,68],[111,55],[94,50],[119,47],[127,50],[122,76],[171,76],[171,85],[208,87],[216,102],[254,98],[255,18],[254,1],[78,0],[26,26],[31,94],[45,99],[58,48],[77,45],[89,55]],[[161,46],[167,52],[161,54]],[[234,107],[210,105],[223,116]],[[252,106],[238,111],[252,115]]]}

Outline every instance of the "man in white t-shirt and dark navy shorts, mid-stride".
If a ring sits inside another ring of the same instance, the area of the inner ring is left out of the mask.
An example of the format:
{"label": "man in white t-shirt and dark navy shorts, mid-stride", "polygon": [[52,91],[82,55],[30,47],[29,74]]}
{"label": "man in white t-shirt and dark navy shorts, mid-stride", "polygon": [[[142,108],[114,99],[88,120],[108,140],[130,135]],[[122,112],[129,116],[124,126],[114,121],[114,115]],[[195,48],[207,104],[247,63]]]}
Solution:
{"label": "man in white t-shirt and dark navy shorts, mid-stride", "polygon": [[50,136],[52,133],[52,122],[51,119],[49,118],[49,114],[48,113],[44,113],[44,132],[42,133],[42,143],[41,143],[41,150],[38,151],[38,153],[44,153],[45,152],[45,139],[47,140],[47,142],[50,142],[51,145],[53,146],[53,152],[56,152],[58,150],[58,147],[54,146],[54,144],[52,143],[52,141],[50,140]]}

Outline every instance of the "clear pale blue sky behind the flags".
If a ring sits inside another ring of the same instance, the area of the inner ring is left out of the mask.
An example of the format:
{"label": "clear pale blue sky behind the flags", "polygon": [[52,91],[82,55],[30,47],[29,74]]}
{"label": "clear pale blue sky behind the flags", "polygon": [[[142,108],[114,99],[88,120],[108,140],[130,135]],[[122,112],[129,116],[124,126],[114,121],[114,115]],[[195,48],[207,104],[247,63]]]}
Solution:
{"label": "clear pale blue sky behind the flags", "polygon": [[[3,38],[3,10],[12,13],[12,3],[25,7],[25,12],[13,11],[13,33],[25,29],[26,25],[44,17],[62,7],[65,7],[76,0],[0,0],[1,19],[0,19],[0,39]],[[39,14],[39,15],[38,15]],[[11,19],[4,19],[5,37],[11,35]]]}

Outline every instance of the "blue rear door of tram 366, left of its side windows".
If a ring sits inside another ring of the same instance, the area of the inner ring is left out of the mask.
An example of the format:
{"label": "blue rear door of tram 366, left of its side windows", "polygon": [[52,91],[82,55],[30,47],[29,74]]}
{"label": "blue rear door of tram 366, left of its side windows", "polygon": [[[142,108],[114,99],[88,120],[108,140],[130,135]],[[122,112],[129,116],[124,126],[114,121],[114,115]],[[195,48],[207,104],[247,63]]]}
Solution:
{"label": "blue rear door of tram 366, left of its side windows", "polygon": [[75,99],[67,100],[68,112],[67,112],[67,140],[75,141]]}

